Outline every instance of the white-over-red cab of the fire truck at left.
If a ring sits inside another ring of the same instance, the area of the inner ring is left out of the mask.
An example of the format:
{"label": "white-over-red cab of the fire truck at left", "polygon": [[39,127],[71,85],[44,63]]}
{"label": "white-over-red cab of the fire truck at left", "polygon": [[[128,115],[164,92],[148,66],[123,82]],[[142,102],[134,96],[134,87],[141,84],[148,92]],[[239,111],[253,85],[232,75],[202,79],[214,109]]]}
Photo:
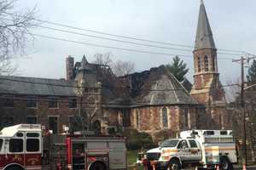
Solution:
{"label": "white-over-red cab of the fire truck at left", "polygon": [[0,169],[41,169],[41,126],[19,124],[0,132]]}

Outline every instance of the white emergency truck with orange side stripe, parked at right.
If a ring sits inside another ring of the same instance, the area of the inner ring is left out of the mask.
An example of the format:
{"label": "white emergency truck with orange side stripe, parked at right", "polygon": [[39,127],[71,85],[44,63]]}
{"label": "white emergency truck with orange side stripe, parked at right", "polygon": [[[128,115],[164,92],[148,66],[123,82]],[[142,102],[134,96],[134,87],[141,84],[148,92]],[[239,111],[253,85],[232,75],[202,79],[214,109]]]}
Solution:
{"label": "white emergency truck with orange side stripe, parked at right", "polygon": [[232,164],[237,163],[236,143],[230,130],[183,131],[180,138],[167,139],[158,148],[148,150],[146,157],[156,169],[219,166],[231,170]]}

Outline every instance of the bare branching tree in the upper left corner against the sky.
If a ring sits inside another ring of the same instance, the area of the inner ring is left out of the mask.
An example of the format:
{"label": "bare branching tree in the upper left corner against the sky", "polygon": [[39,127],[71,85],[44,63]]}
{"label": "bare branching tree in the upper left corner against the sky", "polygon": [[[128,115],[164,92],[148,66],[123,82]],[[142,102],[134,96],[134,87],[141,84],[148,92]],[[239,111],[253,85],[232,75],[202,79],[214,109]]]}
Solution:
{"label": "bare branching tree in the upper left corner against the sky", "polygon": [[19,11],[18,0],[0,0],[0,74],[12,74],[11,59],[25,54],[26,42],[32,40],[30,29],[38,26],[36,8]]}

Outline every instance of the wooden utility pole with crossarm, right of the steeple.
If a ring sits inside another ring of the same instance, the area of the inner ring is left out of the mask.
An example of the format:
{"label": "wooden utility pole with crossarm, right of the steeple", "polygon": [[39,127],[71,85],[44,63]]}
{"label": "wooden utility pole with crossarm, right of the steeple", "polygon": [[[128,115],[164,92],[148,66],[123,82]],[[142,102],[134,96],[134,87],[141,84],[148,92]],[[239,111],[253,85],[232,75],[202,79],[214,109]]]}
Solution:
{"label": "wooden utility pole with crossarm, right of the steeple", "polygon": [[249,62],[250,59],[256,57],[243,57],[241,59],[233,59],[232,62],[241,63],[241,130],[242,130],[242,164],[247,165],[247,130],[246,130],[246,114],[245,114],[245,102],[244,102],[244,62]]}

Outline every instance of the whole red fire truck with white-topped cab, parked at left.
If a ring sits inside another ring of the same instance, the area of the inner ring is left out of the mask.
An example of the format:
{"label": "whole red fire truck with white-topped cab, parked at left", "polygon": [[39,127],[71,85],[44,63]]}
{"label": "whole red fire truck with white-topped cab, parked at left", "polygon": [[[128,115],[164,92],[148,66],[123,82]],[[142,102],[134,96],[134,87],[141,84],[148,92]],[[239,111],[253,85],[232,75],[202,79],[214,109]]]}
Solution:
{"label": "whole red fire truck with white-topped cab, parked at left", "polygon": [[38,124],[4,127],[0,170],[126,170],[125,139],[96,135],[44,135]]}

